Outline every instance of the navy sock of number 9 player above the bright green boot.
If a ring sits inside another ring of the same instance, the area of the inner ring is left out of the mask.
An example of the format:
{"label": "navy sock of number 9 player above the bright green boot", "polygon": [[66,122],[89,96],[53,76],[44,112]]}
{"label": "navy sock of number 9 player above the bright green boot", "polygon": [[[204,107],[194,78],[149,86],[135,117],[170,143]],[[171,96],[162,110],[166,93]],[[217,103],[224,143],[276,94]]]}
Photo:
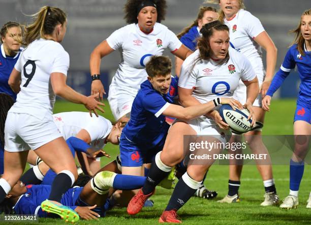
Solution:
{"label": "navy sock of number 9 player above the bright green boot", "polygon": [[61,196],[70,189],[71,185],[72,180],[68,174],[58,173],[52,183],[51,193],[48,199],[60,202]]}

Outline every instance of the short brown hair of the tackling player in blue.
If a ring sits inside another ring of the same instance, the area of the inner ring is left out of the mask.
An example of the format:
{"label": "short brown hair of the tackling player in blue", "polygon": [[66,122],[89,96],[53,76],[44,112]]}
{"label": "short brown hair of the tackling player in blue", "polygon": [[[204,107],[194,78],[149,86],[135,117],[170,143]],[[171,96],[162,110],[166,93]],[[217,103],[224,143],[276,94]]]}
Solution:
{"label": "short brown hair of the tackling player in blue", "polygon": [[151,56],[146,64],[146,71],[149,77],[153,78],[158,75],[166,76],[171,73],[172,61],[167,56]]}

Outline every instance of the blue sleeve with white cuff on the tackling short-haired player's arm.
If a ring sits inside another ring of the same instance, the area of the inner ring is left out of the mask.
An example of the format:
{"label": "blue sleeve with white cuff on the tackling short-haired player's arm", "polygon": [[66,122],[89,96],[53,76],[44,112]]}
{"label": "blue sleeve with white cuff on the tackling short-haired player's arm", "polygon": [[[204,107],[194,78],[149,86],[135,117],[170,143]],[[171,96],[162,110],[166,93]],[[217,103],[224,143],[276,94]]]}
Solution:
{"label": "blue sleeve with white cuff on the tackling short-haired player's arm", "polygon": [[163,96],[156,92],[146,94],[142,102],[144,108],[150,111],[155,117],[159,117],[170,105],[163,99]]}

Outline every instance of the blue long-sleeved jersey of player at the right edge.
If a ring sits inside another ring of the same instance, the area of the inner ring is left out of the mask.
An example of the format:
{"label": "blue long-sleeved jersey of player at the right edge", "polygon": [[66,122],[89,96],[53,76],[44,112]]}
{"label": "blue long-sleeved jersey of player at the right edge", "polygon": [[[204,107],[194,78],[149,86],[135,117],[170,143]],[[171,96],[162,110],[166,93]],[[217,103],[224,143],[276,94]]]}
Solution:
{"label": "blue long-sleeved jersey of player at the right edge", "polygon": [[[271,96],[282,85],[291,69],[297,65],[297,70],[301,80],[297,105],[311,108],[311,51],[306,51],[304,46],[304,56],[298,52],[297,44],[293,45],[285,56],[281,68],[275,74],[269,87],[267,95]],[[293,87],[294,88],[294,87]]]}

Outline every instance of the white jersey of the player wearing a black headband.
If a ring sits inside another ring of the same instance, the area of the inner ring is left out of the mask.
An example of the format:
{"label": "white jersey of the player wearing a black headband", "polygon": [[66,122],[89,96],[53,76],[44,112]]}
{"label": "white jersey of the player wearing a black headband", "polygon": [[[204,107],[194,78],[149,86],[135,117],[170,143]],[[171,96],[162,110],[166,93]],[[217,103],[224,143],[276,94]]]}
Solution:
{"label": "white jersey of the player wearing a black headband", "polygon": [[147,79],[145,65],[150,56],[162,55],[166,48],[173,52],[182,45],[177,36],[161,23],[155,23],[149,34],[142,32],[138,24],[129,24],[114,31],[106,41],[112,49],[120,49],[121,54],[111,84],[136,90]]}

